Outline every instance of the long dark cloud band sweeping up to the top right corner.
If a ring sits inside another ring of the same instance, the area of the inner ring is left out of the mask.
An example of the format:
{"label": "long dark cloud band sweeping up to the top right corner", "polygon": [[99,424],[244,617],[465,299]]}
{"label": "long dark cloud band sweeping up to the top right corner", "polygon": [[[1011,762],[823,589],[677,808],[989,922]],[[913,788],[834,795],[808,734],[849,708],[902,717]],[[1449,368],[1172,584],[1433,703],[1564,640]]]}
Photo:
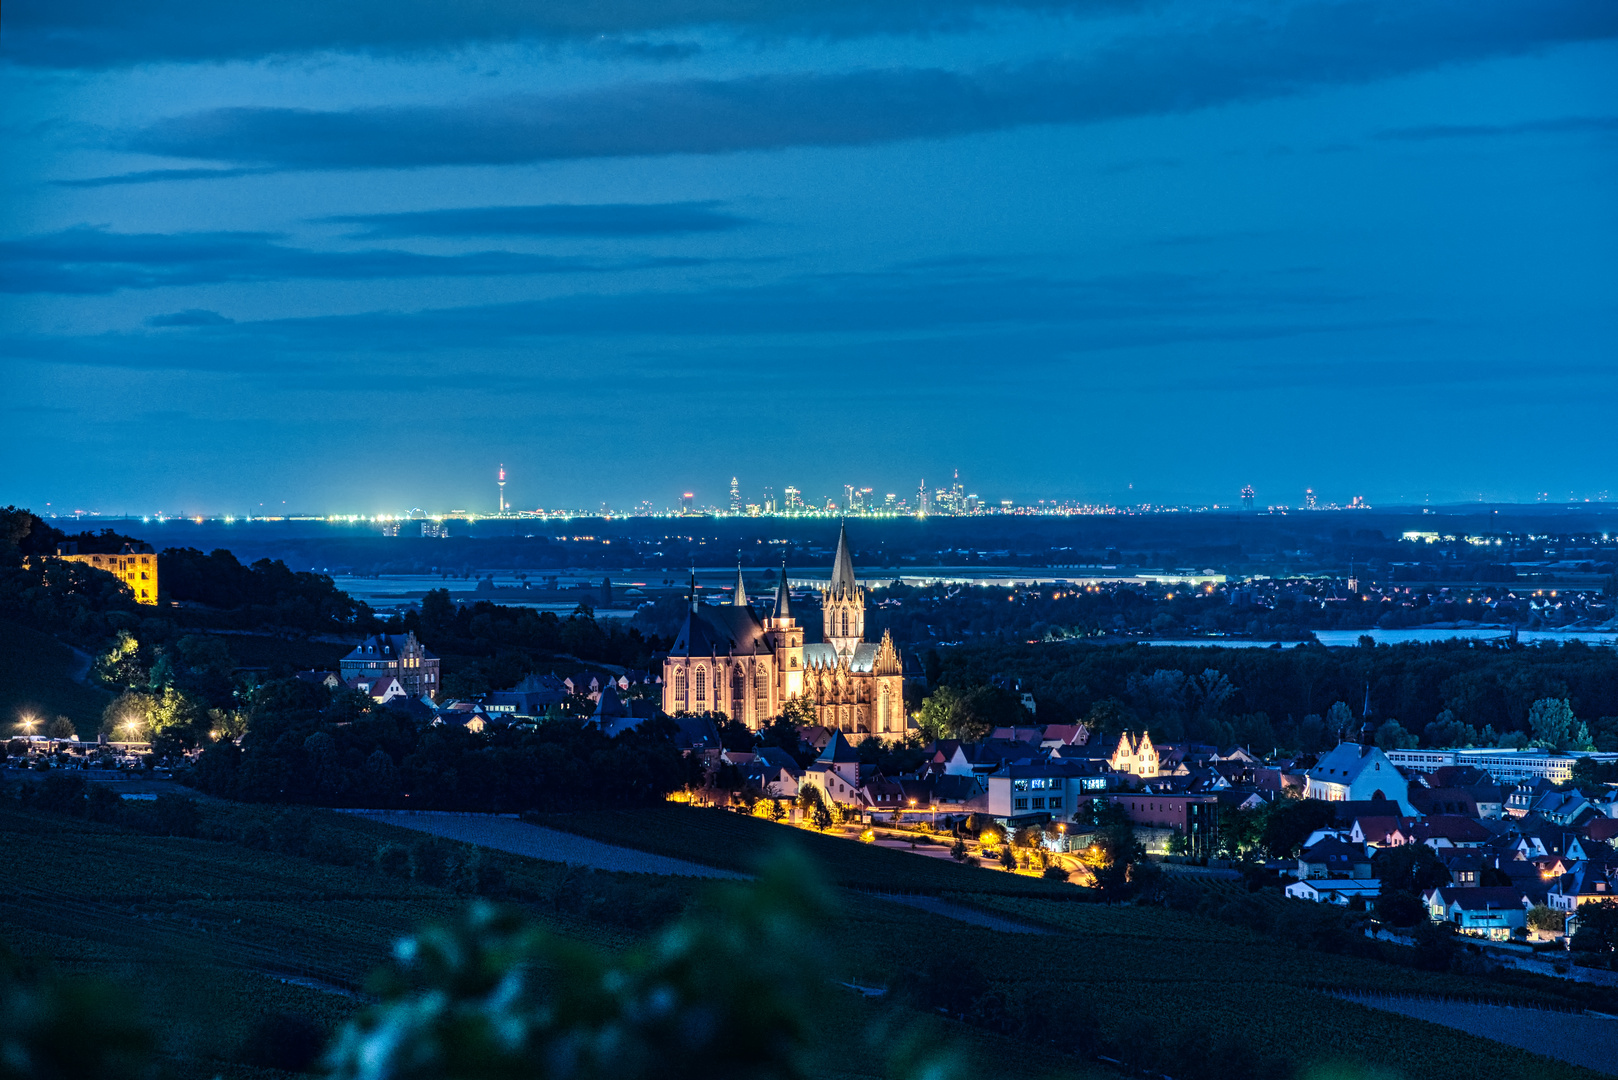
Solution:
{"label": "long dark cloud band sweeping up to the top right corner", "polygon": [[346,112],[231,107],[157,121],[126,149],[277,168],[508,165],[862,146],[1162,115],[1618,36],[1607,0],[1319,3],[1139,37],[1087,58],[629,83],[565,96]]}

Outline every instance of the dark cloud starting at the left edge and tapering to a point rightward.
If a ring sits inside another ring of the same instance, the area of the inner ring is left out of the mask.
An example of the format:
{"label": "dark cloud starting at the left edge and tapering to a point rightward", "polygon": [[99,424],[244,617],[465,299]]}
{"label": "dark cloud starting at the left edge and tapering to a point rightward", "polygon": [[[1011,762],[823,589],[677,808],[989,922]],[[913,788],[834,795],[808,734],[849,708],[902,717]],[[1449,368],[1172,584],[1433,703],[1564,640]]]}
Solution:
{"label": "dark cloud starting at the left edge and tapering to a point rightward", "polygon": [[78,227],[0,241],[0,293],[112,293],[288,279],[576,274],[696,262],[680,257],[591,262],[511,251],[453,256],[387,249],[311,251],[278,243],[270,233],[113,233]]}

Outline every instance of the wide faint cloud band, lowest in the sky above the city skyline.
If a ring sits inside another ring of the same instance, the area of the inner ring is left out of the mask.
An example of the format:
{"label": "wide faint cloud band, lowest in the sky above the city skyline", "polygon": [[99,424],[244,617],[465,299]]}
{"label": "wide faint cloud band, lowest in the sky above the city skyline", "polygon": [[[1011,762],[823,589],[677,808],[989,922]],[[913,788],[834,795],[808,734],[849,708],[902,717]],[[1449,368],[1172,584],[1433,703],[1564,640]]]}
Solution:
{"label": "wide faint cloud band, lowest in the sky above the city skyline", "polygon": [[[450,371],[508,366],[511,356],[531,358],[536,348],[553,345],[571,358],[563,363],[589,368],[595,363],[589,356],[634,355],[646,358],[649,377],[675,377],[702,374],[699,356],[712,345],[735,353],[749,377],[757,377],[762,342],[770,350],[801,351],[812,342],[812,355],[822,356],[814,363],[830,376],[864,363],[848,359],[851,348],[892,356],[921,340],[976,340],[982,347],[968,350],[976,359],[959,372],[976,377],[990,355],[1014,353],[1026,366],[1103,350],[1349,334],[1385,324],[1356,319],[1356,300],[1291,280],[1256,285],[1189,274],[1065,279],[937,266],[416,313],[197,322],[162,335],[16,335],[0,342],[0,351],[45,363],[243,372],[325,369],[340,358],[333,371],[351,374],[392,364],[398,355]],[[681,359],[670,364],[670,356]],[[527,369],[531,363],[516,366]],[[938,363],[917,359],[914,371],[937,376]],[[806,372],[788,364],[781,376],[803,382]]]}

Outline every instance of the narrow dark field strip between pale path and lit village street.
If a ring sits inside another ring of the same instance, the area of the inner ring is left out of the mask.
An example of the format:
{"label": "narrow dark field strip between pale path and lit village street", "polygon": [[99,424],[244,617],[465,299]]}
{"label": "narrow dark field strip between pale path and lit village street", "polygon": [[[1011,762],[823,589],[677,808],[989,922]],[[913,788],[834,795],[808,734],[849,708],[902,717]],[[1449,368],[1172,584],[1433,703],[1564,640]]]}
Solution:
{"label": "narrow dark field strip between pale path and lit village street", "polygon": [[725,810],[670,803],[646,810],[578,814],[536,814],[536,824],[576,832],[657,855],[673,855],[704,866],[752,871],[759,858],[793,844],[820,866],[830,884],[875,892],[972,892],[1086,900],[1081,891],[998,870],[959,866],[940,858],[888,852],[840,836],[749,818]]}

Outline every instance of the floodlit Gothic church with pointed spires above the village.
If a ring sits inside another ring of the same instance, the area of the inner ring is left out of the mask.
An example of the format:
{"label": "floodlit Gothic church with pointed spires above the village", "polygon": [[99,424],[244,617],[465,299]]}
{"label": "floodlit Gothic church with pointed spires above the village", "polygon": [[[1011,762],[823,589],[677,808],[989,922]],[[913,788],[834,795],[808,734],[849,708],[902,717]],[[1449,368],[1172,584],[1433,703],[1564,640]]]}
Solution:
{"label": "floodlit Gothic church with pointed spires above the village", "polygon": [[760,619],[748,602],[741,568],[728,604],[699,604],[663,661],[663,711],[725,712],[751,729],[804,698],[815,722],[845,735],[900,735],[906,727],[904,669],[893,640],[866,641],[866,591],[854,578],[848,531],[837,538],[832,580],[820,593],[822,643],[804,644],[791,614],[786,567],[775,609]]}

